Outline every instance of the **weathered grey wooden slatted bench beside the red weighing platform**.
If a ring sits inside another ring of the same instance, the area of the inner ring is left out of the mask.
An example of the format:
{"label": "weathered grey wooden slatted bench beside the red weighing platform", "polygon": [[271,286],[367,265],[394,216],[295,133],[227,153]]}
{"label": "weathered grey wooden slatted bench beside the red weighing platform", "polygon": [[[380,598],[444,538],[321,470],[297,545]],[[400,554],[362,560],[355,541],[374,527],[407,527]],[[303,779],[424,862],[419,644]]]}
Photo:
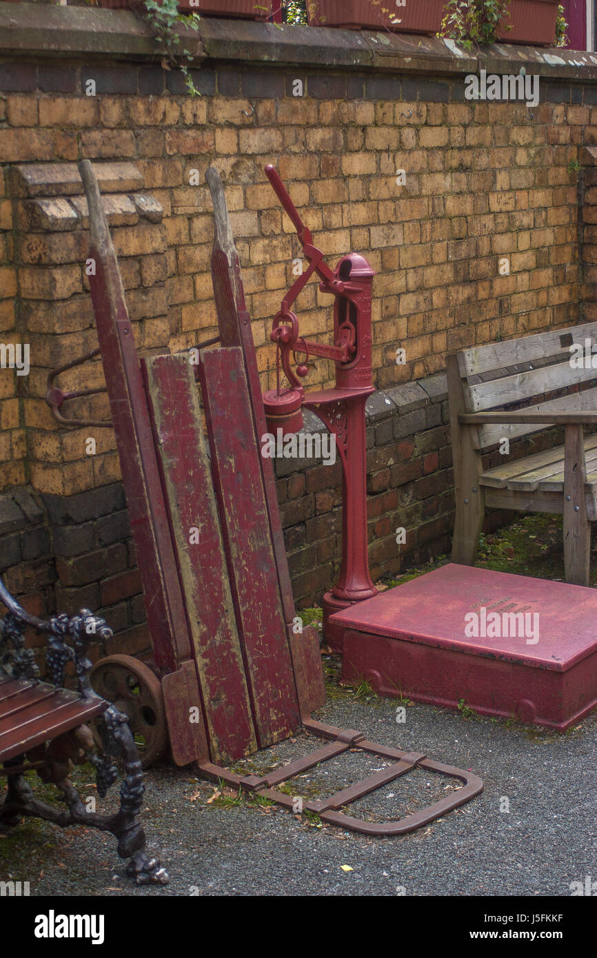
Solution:
{"label": "weathered grey wooden slatted bench beside the red weighing platform", "polygon": [[[588,584],[590,530],[597,521],[595,343],[597,323],[586,323],[448,356],[453,562],[474,564],[488,508],[560,513],[566,581]],[[578,348],[587,361],[578,361]],[[509,460],[512,440],[554,425],[564,427],[563,445]],[[503,465],[483,468],[482,454],[496,445]]]}

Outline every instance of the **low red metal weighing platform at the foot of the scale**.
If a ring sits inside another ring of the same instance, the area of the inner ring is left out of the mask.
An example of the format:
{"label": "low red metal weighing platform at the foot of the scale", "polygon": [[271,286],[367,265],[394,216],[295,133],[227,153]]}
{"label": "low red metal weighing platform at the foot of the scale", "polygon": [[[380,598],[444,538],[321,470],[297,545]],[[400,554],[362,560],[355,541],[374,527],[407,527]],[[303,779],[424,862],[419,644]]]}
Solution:
{"label": "low red metal weighing platform at the foot of the scale", "polygon": [[464,699],[559,732],[597,706],[595,589],[449,563],[332,621],[343,629],[342,679],[364,678],[382,696],[448,708]]}

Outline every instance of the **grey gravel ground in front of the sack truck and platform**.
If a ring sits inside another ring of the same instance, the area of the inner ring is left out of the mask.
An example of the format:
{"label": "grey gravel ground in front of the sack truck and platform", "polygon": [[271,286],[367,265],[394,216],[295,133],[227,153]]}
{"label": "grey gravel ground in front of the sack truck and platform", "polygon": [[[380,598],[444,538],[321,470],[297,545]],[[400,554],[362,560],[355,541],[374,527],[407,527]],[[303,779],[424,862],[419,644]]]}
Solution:
{"label": "grey gravel ground in front of the sack truck and platform", "polygon": [[[597,714],[557,736],[419,704],[397,724],[396,705],[337,692],[316,718],[426,751],[484,779],[482,795],[419,832],[371,838],[243,799],[208,804],[213,784],[193,769],[164,765],[148,773],[144,821],[151,852],[170,871],[169,886],[131,887],[111,836],[37,822],[0,838],[0,878],[29,880],[37,896],[396,896],[401,888],[407,896],[569,896],[570,882],[597,879]],[[310,747],[307,736],[284,742],[253,758],[249,770]],[[296,793],[335,790],[349,770],[362,776],[371,767],[379,760],[372,766],[348,753],[298,780]],[[445,784],[418,771],[356,808],[391,815],[405,804],[429,804]],[[503,798],[509,812],[500,811]]]}

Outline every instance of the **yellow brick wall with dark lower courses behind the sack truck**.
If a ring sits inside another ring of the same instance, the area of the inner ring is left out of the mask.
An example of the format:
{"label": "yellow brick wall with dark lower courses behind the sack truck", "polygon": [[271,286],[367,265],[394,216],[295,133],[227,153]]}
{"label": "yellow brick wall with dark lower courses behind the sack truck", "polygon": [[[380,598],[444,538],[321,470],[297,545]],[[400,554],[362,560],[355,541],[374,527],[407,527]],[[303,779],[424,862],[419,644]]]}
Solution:
{"label": "yellow brick wall with dark lower courses behind the sack truck", "polygon": [[[19,15],[26,23],[26,5],[0,3],[0,28],[7,7],[0,337],[31,344],[32,372],[0,370],[0,489],[28,483],[44,497],[56,598],[77,604],[87,590],[90,604],[108,608],[118,627],[137,625],[139,582],[124,506],[104,513],[101,505],[103,490],[120,488],[113,434],[59,427],[44,402],[49,369],[97,342],[84,270],[86,211],[69,166],[81,157],[102,165],[128,308],[145,352],[184,349],[216,331],[204,185],[212,163],[225,184],[264,388],[273,385],[271,318],[300,249],[264,165],[277,166],[329,262],[351,249],[370,260],[378,271],[376,384],[390,399],[374,398],[369,427],[374,574],[397,571],[404,555],[444,551],[452,508],[439,398],[447,351],[580,318],[577,173],[569,165],[597,141],[597,72],[588,58],[579,65],[579,55],[563,51],[556,62],[505,47],[457,56],[428,38],[413,47],[401,36],[381,43],[377,34],[230,21],[224,31],[206,20],[192,71],[201,95],[192,97],[178,71],[162,69],[147,29],[128,12],[93,11],[91,27],[90,11],[78,10],[75,24],[68,8],[48,8],[46,47],[58,55],[49,58],[43,42],[26,47],[26,26],[20,34],[14,27]],[[497,73],[532,66],[540,104],[467,102],[464,76],[481,66]],[[297,79],[300,97],[293,95]],[[89,80],[93,96],[85,93]],[[500,274],[503,257],[509,275]],[[297,307],[302,334],[329,339],[329,299],[316,284]],[[63,381],[65,388],[100,384],[99,364]],[[308,384],[332,383],[332,364],[316,361]],[[100,419],[106,412],[103,397],[72,410]],[[333,582],[339,487],[337,468],[302,466],[278,482],[296,594],[308,602]],[[69,521],[64,509],[79,496],[90,513],[69,512]],[[396,526],[407,529],[402,554]],[[117,580],[113,591],[98,592],[108,574]]]}

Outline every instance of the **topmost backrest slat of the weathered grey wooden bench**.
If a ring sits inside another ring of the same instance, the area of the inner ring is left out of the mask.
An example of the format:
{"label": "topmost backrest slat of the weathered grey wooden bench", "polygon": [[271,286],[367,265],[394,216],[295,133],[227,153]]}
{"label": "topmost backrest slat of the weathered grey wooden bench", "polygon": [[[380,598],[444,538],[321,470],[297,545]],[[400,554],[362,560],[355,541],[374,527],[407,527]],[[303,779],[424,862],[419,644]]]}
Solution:
{"label": "topmost backrest slat of the weathered grey wooden bench", "polygon": [[517,363],[532,363],[547,356],[565,352],[569,356],[568,346],[563,346],[561,337],[572,336],[575,343],[597,342],[597,323],[585,323],[563,330],[540,332],[535,336],[523,336],[521,339],[508,339],[503,343],[491,343],[488,346],[472,346],[458,354],[458,367],[463,378],[479,376],[483,373],[516,366]]}

